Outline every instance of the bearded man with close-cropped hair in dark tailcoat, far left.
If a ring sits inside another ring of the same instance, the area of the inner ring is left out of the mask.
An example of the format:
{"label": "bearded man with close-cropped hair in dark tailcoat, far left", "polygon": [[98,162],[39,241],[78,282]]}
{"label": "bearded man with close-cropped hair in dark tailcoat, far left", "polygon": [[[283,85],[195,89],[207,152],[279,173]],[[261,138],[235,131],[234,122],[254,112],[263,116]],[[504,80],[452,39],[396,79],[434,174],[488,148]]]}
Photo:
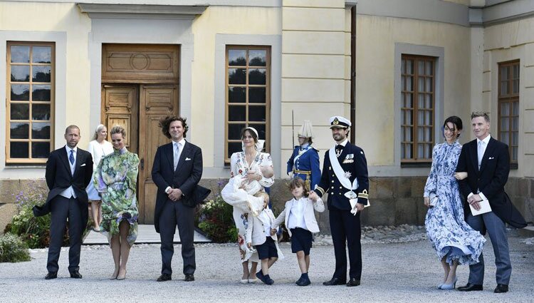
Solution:
{"label": "bearded man with close-cropped hair in dark tailcoat, far left", "polygon": [[69,125],[65,130],[67,145],[54,150],[46,161],[48,197],[43,207],[34,207],[36,216],[51,212],[50,247],[45,279],[58,277],[58,260],[68,218],[68,271],[70,277],[81,279],[80,248],[82,233],[88,220],[88,197],[85,188],[93,175],[93,158],[88,151],[78,148],[80,128]]}

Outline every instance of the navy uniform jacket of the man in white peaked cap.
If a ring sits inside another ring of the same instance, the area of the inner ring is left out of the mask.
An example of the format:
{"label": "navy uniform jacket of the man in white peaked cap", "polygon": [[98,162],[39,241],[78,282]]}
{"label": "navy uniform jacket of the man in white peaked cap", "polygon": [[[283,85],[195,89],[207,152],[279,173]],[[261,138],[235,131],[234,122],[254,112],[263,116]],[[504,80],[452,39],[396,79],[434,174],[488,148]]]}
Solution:
{"label": "navy uniform jacket of the man in white peaked cap", "polygon": [[[354,192],[357,193],[358,203],[367,205],[369,198],[369,179],[367,178],[367,160],[365,159],[365,153],[363,153],[362,148],[347,142],[347,145],[345,145],[337,160],[339,160],[342,170],[350,173],[349,180],[351,183],[355,178],[358,179],[358,188]],[[317,192],[319,197],[323,197],[328,192],[329,210],[331,208],[350,210],[349,199],[345,197],[345,192],[347,191],[347,188],[344,188],[335,176],[332,165],[330,165],[330,157],[328,156],[327,150],[323,163],[323,174],[315,192]]]}

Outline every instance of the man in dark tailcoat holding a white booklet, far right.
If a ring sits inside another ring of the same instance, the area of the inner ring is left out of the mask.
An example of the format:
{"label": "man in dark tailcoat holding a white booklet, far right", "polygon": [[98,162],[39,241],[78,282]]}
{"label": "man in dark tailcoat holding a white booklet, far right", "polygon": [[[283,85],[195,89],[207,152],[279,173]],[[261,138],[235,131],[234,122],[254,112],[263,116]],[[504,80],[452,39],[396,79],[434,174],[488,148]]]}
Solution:
{"label": "man in dark tailcoat holding a white booklet, far right", "polygon": [[[488,232],[497,267],[497,287],[494,292],[508,292],[512,265],[504,222],[522,225],[520,221],[525,221],[504,192],[504,185],[510,173],[508,145],[491,138],[490,118],[487,113],[472,113],[471,126],[476,140],[462,147],[456,167],[457,172],[467,172],[467,178],[459,181],[461,193],[466,200],[464,207],[466,222],[482,235]],[[483,200],[488,200],[491,212],[472,215],[468,205],[475,210],[480,210],[480,202]],[[482,290],[483,279],[484,259],[481,255],[480,262],[469,266],[468,283],[464,287],[459,287],[458,290],[464,292]]]}

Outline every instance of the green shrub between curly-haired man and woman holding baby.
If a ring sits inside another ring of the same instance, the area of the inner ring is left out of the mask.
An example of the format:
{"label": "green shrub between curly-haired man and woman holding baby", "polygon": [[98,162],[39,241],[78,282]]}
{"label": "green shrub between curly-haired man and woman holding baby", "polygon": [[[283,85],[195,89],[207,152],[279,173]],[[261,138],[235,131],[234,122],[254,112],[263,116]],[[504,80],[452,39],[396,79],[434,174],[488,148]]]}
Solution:
{"label": "green shrub between curly-haired man and woman holding baby", "polygon": [[[219,183],[219,190],[223,183]],[[235,242],[237,228],[232,213],[234,208],[224,202],[217,193],[213,200],[209,200],[199,207],[197,212],[197,226],[215,243]]]}

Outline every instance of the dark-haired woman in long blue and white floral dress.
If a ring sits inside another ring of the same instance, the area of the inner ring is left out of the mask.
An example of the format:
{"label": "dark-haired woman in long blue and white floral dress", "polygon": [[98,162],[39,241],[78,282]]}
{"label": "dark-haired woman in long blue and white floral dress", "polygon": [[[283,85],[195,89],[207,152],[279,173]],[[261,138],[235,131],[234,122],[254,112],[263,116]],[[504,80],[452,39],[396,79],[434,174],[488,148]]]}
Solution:
{"label": "dark-haired woman in long blue and white floral dress", "polygon": [[456,267],[478,263],[486,239],[464,220],[456,179],[466,178],[467,173],[455,173],[461,152],[457,140],[461,119],[454,115],[446,118],[443,127],[446,142],[434,147],[432,168],[424,186],[424,205],[429,207],[424,224],[445,272],[444,282],[438,288],[449,290],[456,287]]}

